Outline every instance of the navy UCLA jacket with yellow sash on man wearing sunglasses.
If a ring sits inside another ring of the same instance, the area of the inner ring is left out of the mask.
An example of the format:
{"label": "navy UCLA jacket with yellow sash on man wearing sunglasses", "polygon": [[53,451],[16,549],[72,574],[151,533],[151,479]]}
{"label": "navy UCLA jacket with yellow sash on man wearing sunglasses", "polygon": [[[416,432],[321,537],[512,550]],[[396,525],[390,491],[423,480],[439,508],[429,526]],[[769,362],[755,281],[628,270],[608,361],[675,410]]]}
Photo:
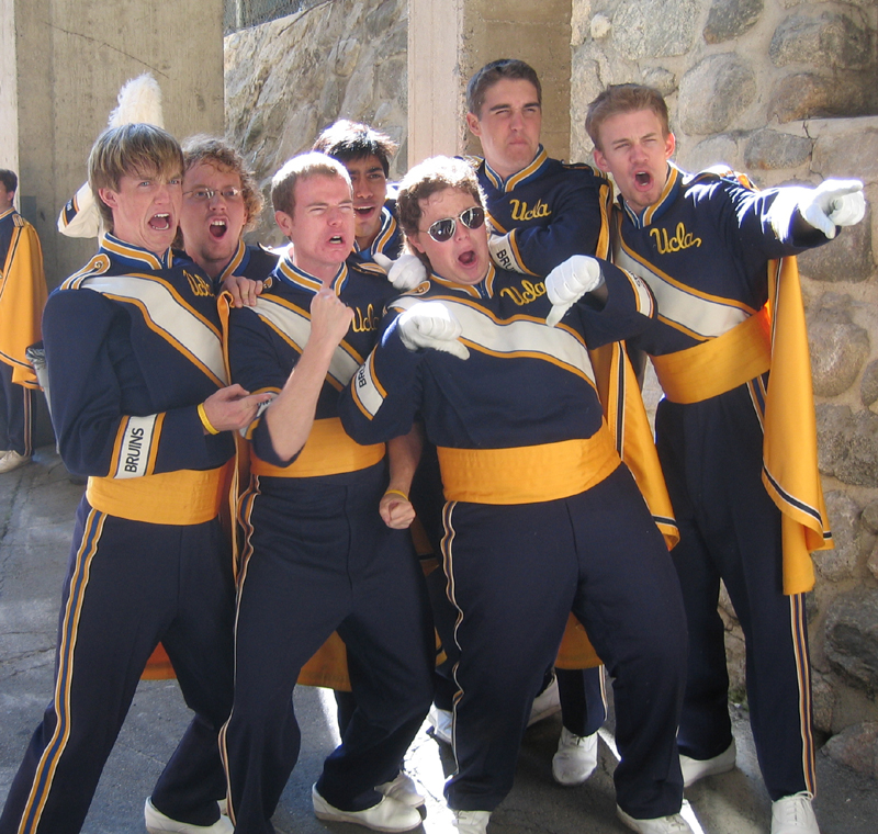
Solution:
{"label": "navy UCLA jacket with yellow sash on man wearing sunglasses", "polygon": [[[342,399],[345,427],[360,442],[380,442],[405,433],[420,416],[428,439],[439,449],[449,500],[516,504],[564,497],[529,496],[528,485],[517,481],[509,465],[533,465],[531,475],[540,484],[551,481],[552,489],[566,495],[588,488],[594,473],[583,474],[587,467],[565,466],[552,458],[561,469],[579,471],[573,480],[553,481],[545,477],[541,453],[531,457],[530,451],[552,454],[554,449],[563,455],[565,442],[581,447],[594,441],[593,463],[603,476],[619,463],[612,441],[603,437],[606,426],[588,348],[642,331],[654,307],[642,281],[610,264],[603,269],[609,290],[606,305],[599,308],[586,296],[554,328],[545,325],[551,304],[542,282],[493,264],[475,286],[434,274],[391,305],[380,345]],[[395,322],[404,309],[426,300],[441,301],[461,323],[468,360],[404,347]],[[474,473],[468,467],[477,466],[466,457],[471,451],[499,452],[497,463],[506,469],[470,477]],[[509,451],[513,457],[504,454]]]}

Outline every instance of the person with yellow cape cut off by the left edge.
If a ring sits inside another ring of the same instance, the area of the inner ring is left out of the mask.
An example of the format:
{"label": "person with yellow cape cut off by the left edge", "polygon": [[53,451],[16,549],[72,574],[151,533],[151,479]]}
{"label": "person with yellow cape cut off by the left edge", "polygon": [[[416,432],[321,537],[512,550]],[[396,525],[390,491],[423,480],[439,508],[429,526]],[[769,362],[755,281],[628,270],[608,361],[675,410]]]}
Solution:
{"label": "person with yellow cape cut off by the left edge", "polygon": [[24,351],[40,341],[46,303],[43,250],[36,229],[14,208],[19,178],[0,169],[0,473],[33,453],[36,374]]}

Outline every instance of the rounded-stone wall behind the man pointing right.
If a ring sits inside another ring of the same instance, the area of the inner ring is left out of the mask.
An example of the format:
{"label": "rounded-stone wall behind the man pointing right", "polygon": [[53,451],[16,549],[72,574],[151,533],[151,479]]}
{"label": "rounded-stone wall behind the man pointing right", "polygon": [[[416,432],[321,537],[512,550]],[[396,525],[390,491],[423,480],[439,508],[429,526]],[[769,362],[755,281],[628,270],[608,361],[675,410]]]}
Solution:
{"label": "rounded-stone wall behind the man pointing right", "polygon": [[[652,25],[658,22],[660,25]],[[571,156],[607,84],[662,90],[677,159],[725,162],[761,187],[857,177],[878,203],[878,4],[798,0],[574,0]],[[835,549],[809,595],[817,729],[878,776],[878,212],[800,258],[820,466]],[[743,641],[722,602],[733,687]],[[869,753],[870,751],[870,753]]]}

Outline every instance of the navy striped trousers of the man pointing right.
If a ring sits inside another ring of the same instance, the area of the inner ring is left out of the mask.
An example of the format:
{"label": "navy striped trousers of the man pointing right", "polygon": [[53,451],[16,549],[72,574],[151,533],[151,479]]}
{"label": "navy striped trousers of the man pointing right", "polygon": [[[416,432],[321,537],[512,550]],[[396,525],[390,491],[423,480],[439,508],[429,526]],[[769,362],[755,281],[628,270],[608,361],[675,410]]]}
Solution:
{"label": "navy striped trousers of the man pointing right", "polygon": [[662,401],[655,432],[680,531],[672,556],[689,629],[679,748],[705,759],[732,742],[717,610],[722,579],[744,631],[756,754],[777,800],[814,790],[814,753],[804,598],[783,591],[780,511],[761,481],[758,391],[751,384],[701,403]]}

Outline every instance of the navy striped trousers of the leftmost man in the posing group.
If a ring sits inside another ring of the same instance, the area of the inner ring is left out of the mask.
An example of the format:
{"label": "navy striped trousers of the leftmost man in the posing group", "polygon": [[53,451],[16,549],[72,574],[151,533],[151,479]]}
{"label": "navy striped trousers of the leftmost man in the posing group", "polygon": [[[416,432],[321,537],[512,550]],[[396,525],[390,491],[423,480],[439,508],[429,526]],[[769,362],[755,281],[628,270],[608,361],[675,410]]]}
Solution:
{"label": "navy striped trousers of the leftmost man in the posing group", "polygon": [[146,661],[165,644],[195,718],[153,792],[210,825],[225,796],[218,731],[232,707],[232,559],[217,521],[149,525],[79,505],[64,583],[55,697],[12,782],[0,832],[76,834]]}

